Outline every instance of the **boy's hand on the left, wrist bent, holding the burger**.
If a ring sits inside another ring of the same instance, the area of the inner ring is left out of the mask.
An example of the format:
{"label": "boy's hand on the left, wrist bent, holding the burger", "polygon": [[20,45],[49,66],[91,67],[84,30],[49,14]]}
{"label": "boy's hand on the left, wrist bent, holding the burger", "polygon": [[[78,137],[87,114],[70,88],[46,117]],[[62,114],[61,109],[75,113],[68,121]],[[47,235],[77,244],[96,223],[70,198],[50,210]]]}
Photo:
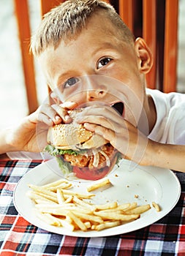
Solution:
{"label": "boy's hand on the left, wrist bent, holding the burger", "polygon": [[69,123],[71,118],[67,115],[67,110],[75,106],[74,102],[66,102],[60,106],[42,105],[23,118],[16,127],[7,129],[6,151],[42,151],[47,145],[48,128],[53,124]]}

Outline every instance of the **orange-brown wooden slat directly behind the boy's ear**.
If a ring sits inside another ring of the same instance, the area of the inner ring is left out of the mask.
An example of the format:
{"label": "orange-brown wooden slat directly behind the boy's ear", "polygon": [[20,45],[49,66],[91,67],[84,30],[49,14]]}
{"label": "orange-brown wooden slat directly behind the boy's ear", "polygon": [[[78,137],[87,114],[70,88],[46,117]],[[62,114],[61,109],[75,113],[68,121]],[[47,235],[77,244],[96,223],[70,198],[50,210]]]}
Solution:
{"label": "orange-brown wooden slat directly behind the boy's ear", "polygon": [[147,85],[156,89],[156,0],[143,0],[143,38],[154,57],[153,67],[146,75]]}

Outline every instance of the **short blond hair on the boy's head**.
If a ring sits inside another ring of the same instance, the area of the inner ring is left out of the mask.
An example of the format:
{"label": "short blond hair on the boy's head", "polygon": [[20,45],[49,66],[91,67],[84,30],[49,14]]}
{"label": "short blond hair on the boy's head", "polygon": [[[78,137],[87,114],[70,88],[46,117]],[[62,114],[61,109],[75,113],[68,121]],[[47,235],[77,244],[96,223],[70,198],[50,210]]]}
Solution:
{"label": "short blond hair on the boy's head", "polygon": [[68,0],[44,16],[39,29],[31,38],[32,53],[39,56],[48,45],[57,48],[61,39],[74,38],[86,26],[88,18],[97,12],[102,12],[109,18],[124,41],[133,42],[132,32],[110,4],[99,0]]}

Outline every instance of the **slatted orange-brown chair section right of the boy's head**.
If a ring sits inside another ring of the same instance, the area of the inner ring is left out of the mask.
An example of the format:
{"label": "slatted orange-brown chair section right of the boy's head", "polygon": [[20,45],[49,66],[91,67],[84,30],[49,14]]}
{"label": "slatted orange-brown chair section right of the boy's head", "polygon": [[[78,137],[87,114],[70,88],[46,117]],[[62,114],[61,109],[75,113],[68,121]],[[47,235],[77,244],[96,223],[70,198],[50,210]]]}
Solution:
{"label": "slatted orange-brown chair section right of the boy's head", "polygon": [[[119,0],[118,11],[133,33],[146,40],[153,53],[154,67],[146,77],[148,87],[176,91],[178,0]],[[140,31],[138,15],[142,23]]]}

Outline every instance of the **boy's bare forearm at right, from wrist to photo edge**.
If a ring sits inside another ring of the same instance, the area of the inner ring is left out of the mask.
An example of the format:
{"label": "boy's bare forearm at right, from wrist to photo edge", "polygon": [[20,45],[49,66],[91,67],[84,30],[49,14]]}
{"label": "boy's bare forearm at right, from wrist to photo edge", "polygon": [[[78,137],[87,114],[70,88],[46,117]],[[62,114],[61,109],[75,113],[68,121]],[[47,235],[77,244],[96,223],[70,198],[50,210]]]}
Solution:
{"label": "boy's bare forearm at right, from wrist to photo edge", "polygon": [[149,140],[145,157],[151,165],[185,172],[185,146]]}

